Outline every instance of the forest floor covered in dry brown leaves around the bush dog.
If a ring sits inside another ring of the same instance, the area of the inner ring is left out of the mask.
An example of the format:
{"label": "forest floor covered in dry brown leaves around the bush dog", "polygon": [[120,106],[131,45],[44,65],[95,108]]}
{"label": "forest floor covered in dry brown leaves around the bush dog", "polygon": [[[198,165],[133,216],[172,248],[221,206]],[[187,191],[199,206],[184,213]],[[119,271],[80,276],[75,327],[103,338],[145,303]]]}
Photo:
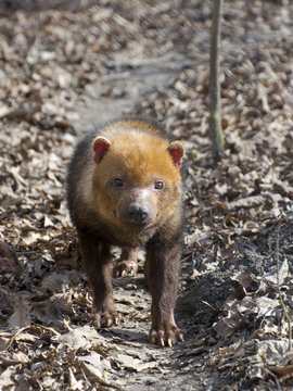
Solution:
{"label": "forest floor covered in dry brown leaves around the bush dog", "polygon": [[[200,0],[0,2],[1,390],[292,390],[293,3],[225,2],[217,165],[209,30]],[[148,342],[143,253],[119,326],[91,326],[66,209],[76,141],[129,113],[187,149],[173,348]]]}

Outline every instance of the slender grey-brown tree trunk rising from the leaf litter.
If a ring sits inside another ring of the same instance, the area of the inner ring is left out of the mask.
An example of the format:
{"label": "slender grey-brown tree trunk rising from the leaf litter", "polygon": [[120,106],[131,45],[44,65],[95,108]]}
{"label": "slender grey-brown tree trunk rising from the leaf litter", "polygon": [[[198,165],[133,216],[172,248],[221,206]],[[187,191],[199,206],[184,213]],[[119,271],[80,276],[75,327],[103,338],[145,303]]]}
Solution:
{"label": "slender grey-brown tree trunk rising from the leaf litter", "polygon": [[224,0],[213,0],[213,2],[209,54],[209,136],[213,154],[216,160],[219,160],[225,144],[221,129],[219,85],[220,24]]}

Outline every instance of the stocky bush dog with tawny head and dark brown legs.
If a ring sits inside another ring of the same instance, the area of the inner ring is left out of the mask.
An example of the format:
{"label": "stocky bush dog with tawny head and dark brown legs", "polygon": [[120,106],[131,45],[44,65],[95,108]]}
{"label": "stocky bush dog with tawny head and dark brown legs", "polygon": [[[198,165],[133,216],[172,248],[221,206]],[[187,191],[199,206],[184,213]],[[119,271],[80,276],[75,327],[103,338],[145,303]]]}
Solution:
{"label": "stocky bush dog with tawny head and dark brown legs", "polygon": [[122,248],[117,273],[137,270],[145,248],[144,275],[152,294],[149,340],[164,346],[182,340],[174,319],[182,244],[180,165],[183,147],[152,121],[106,124],[81,140],[68,166],[67,199],[92,289],[98,327],[117,325],[111,245]]}

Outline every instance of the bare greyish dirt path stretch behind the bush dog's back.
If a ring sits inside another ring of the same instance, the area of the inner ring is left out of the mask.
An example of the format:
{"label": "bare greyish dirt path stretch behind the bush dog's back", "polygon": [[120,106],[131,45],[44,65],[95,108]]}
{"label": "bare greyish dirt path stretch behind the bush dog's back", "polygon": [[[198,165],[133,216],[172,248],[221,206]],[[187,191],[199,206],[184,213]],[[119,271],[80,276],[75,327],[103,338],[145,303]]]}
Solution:
{"label": "bare greyish dirt path stretch behind the bush dog's back", "polygon": [[[174,85],[176,75],[191,61],[175,52],[162,58],[127,61],[125,71],[111,72],[89,85],[86,96],[77,101],[77,130],[84,133],[115,117],[136,112],[138,102],[148,94],[166,90]],[[107,91],[113,91],[106,97]]]}

